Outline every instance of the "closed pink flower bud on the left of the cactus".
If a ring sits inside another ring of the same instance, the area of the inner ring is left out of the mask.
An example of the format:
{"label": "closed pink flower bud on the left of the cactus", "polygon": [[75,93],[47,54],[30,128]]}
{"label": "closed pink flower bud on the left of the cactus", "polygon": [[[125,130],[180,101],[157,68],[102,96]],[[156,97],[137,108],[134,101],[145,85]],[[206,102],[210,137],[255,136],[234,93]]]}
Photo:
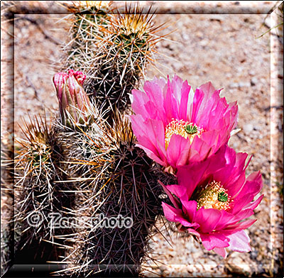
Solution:
{"label": "closed pink flower bud on the left of the cactus", "polygon": [[[82,72],[69,70],[58,72],[53,77],[53,83],[57,91],[61,122],[70,126],[70,120],[75,123],[85,123],[88,120],[89,97],[82,85],[86,76]],[[72,126],[72,125],[71,125]]]}

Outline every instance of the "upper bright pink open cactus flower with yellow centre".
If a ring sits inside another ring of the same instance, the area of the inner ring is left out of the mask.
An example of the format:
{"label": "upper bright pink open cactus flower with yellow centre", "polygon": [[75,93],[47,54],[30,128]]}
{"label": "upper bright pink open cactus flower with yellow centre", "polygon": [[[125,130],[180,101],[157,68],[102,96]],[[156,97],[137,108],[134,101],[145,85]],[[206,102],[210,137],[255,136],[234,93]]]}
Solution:
{"label": "upper bright pink open cactus flower with yellow centre", "polygon": [[173,77],[145,82],[132,90],[131,123],[138,146],[164,167],[200,162],[226,144],[236,126],[236,102],[227,104],[210,82],[192,91]]}

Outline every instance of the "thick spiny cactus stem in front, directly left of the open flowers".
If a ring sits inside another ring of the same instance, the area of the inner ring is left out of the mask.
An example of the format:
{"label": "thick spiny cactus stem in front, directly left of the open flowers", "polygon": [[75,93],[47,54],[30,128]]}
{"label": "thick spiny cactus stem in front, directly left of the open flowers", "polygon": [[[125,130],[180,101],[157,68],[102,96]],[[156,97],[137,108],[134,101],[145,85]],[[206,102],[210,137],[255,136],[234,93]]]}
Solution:
{"label": "thick spiny cactus stem in front, directly left of the open flowers", "polygon": [[160,169],[135,146],[129,121],[118,111],[115,115],[112,128],[106,122],[98,123],[84,133],[75,133],[75,140],[62,138],[66,148],[81,149],[73,152],[76,157],[70,157],[78,162],[74,171],[78,177],[78,194],[72,215],[79,220],[87,216],[87,221],[99,215],[107,218],[121,215],[133,220],[128,228],[75,229],[69,239],[73,249],[65,259],[72,258],[66,273],[75,276],[95,272],[138,274],[150,230],[162,213],[162,188],[157,183]]}

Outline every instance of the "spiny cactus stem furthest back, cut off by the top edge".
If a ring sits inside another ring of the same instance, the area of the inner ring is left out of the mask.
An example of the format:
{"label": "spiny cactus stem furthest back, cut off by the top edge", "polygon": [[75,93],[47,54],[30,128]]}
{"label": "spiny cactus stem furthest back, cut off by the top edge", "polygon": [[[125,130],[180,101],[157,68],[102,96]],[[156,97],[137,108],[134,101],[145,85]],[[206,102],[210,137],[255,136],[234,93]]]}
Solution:
{"label": "spiny cactus stem furthest back, cut off by the top edge", "polygon": [[70,41],[62,45],[65,57],[61,70],[86,72],[96,59],[96,42],[101,38],[100,32],[108,25],[111,1],[66,1],[62,4],[71,13],[67,17],[71,24]]}

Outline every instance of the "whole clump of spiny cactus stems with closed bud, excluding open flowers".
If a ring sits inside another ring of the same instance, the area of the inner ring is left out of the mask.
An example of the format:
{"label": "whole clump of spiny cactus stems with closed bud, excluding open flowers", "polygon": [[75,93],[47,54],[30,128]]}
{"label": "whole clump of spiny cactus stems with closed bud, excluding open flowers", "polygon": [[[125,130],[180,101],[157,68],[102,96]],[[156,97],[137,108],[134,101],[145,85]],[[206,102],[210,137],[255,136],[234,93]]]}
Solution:
{"label": "whole clump of spiny cactus stems with closed bud, excluding open flowers", "polygon": [[[160,26],[154,26],[150,9],[142,14],[139,6],[126,7],[125,14],[111,14],[109,2],[67,6],[75,13],[62,66],[69,72],[53,78],[60,117],[50,127],[41,117],[26,125],[27,140],[20,141],[16,160],[20,246],[23,240],[28,248],[40,243],[38,254],[49,248],[52,257],[43,260],[70,264],[60,273],[71,276],[138,274],[162,213],[163,189],[157,180],[166,183],[171,177],[135,146],[125,113],[128,94],[153,60]],[[81,71],[87,73],[85,82]],[[26,219],[35,212],[44,217],[33,228]],[[133,226],[53,230],[50,212],[79,220],[121,215]]]}

